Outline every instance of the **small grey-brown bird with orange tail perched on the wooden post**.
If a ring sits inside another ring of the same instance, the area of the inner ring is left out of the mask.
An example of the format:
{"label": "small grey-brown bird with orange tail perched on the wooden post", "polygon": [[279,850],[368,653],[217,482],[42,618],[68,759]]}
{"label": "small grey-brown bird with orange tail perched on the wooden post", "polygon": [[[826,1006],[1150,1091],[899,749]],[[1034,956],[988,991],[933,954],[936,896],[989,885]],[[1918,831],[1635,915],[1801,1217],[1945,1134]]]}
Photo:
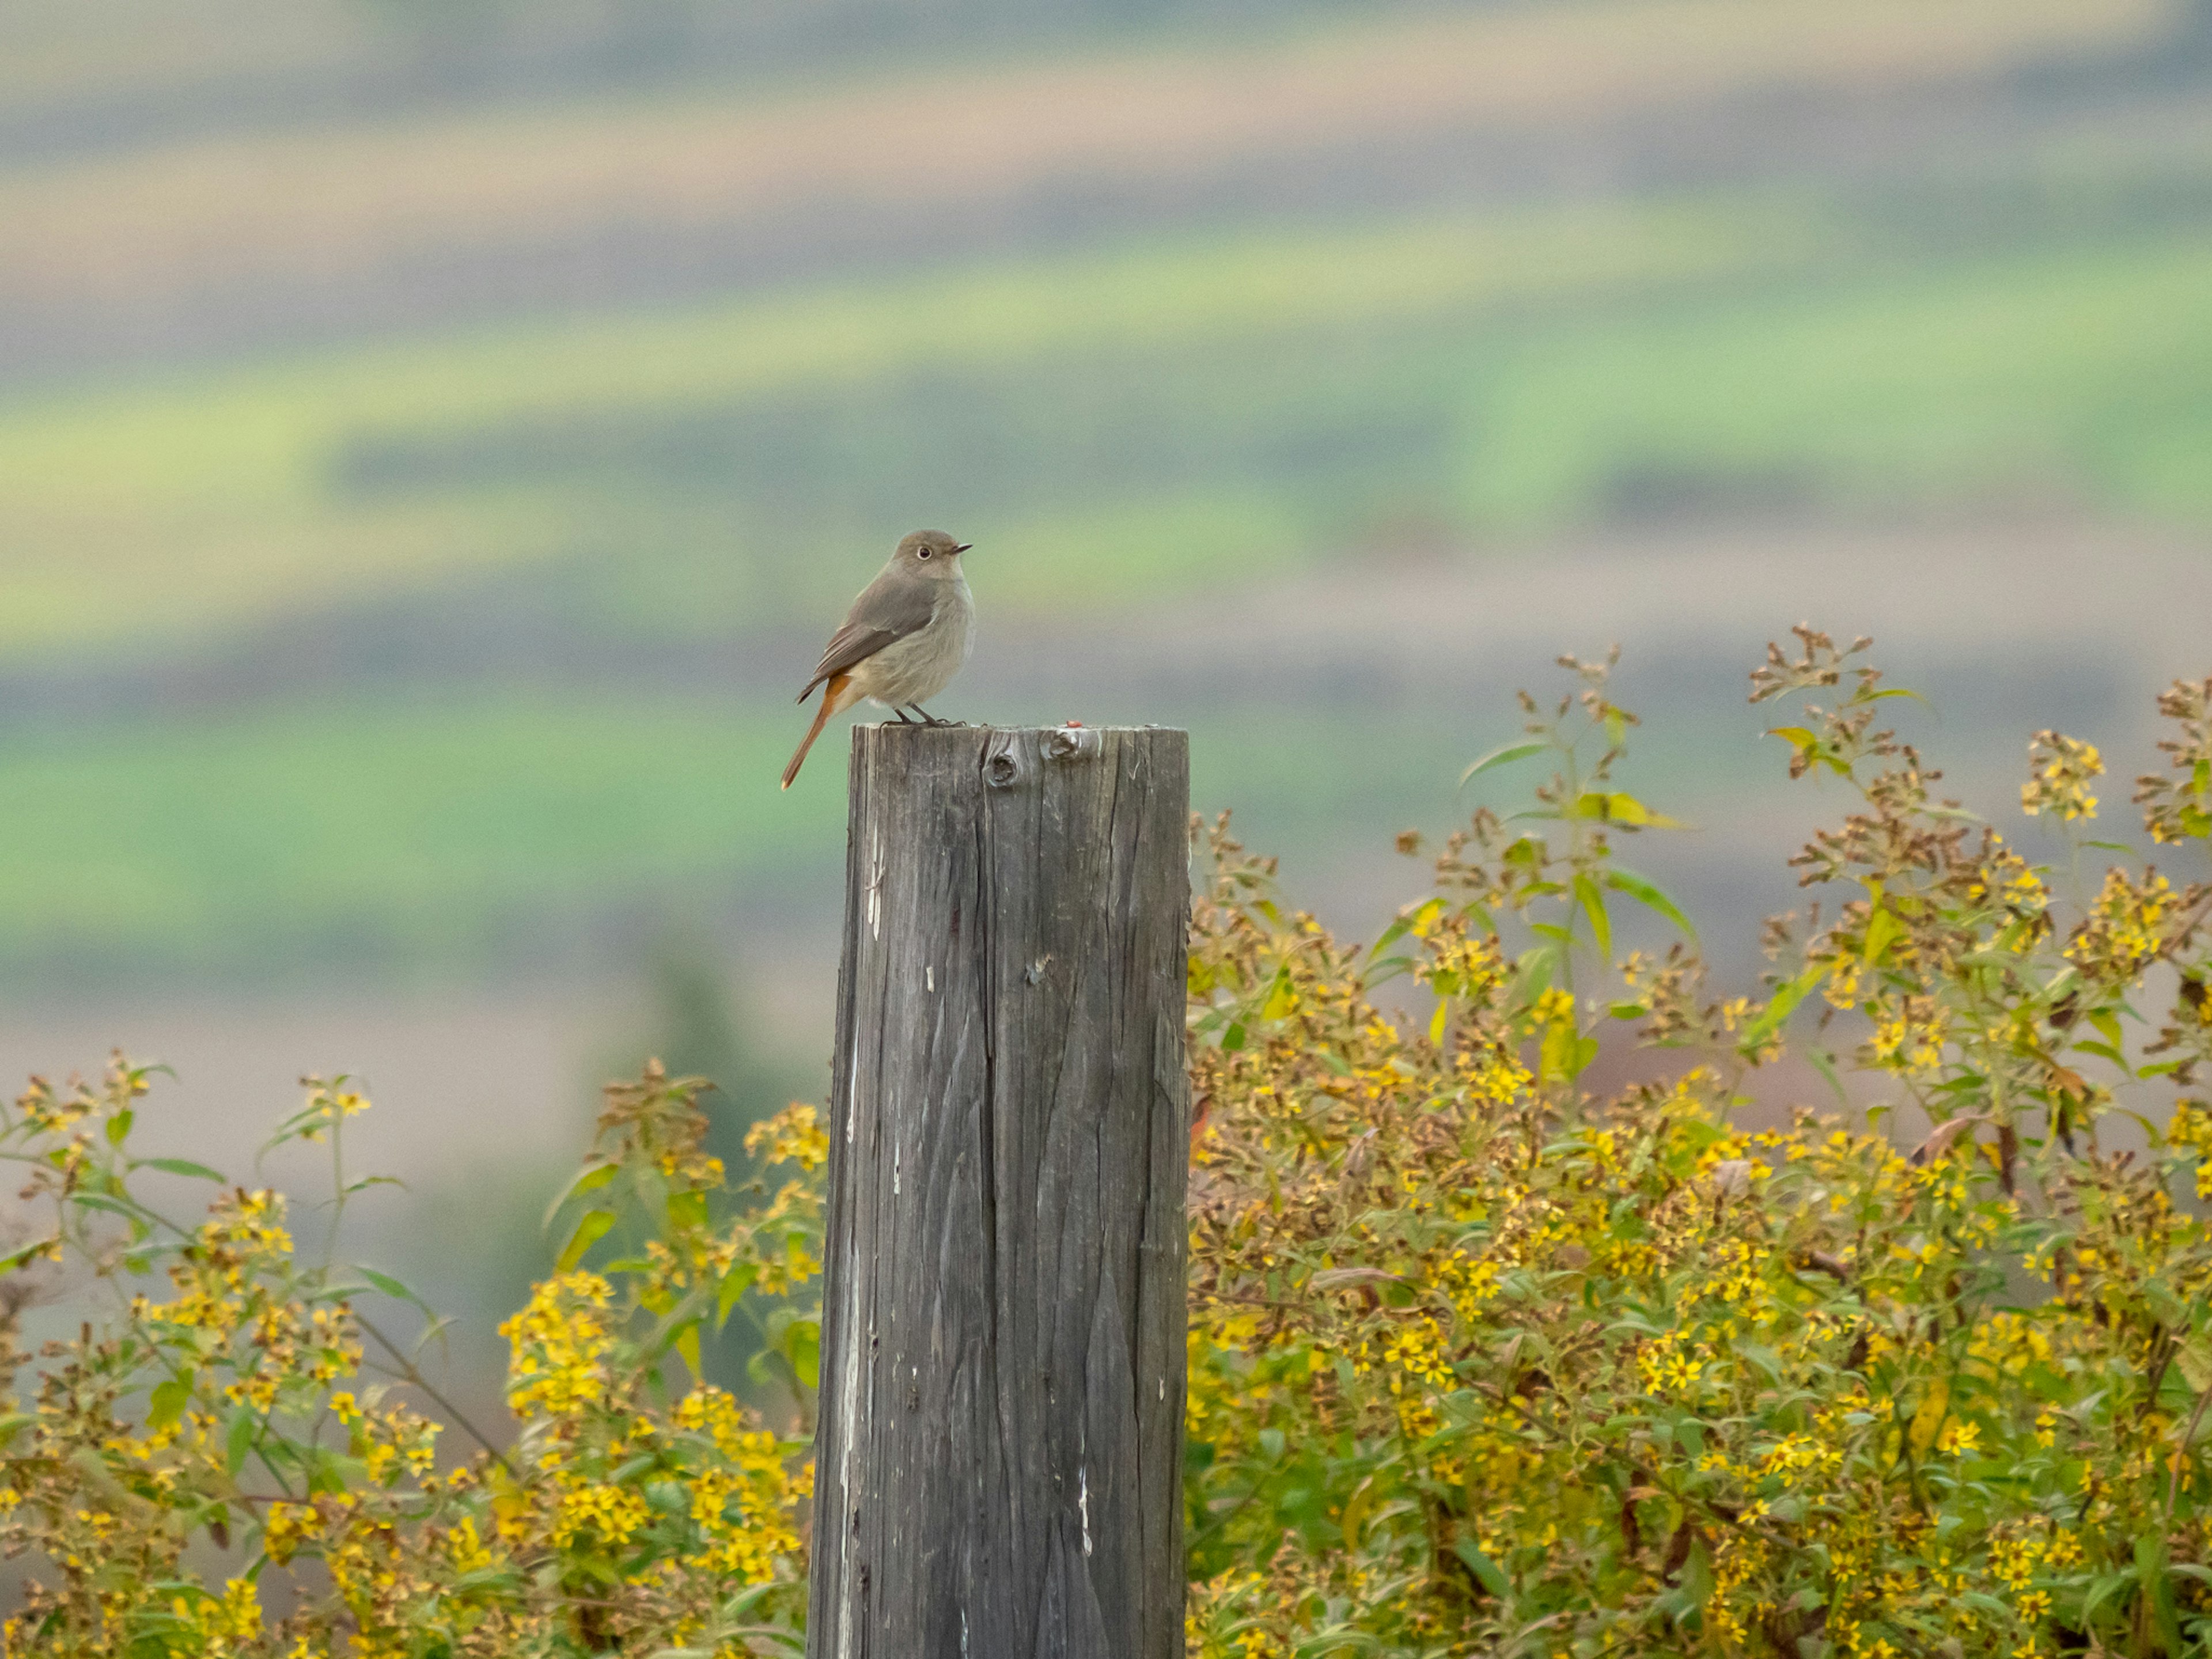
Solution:
{"label": "small grey-brown bird with orange tail perched on the wooden post", "polygon": [[814,679],[799,692],[803,703],[821,686],[823,701],[799,752],[783,768],[785,790],[830,717],[863,697],[889,708],[905,726],[914,723],[907,719],[909,708],[922,717],[922,726],[951,723],[922,703],[951,684],[973,644],[975,599],[969,597],[960,568],[960,555],[969,546],[973,544],[956,542],[945,531],[914,531],[891,551],[883,575],[852,602],[845,626],[830,635],[823,659],[814,664]]}

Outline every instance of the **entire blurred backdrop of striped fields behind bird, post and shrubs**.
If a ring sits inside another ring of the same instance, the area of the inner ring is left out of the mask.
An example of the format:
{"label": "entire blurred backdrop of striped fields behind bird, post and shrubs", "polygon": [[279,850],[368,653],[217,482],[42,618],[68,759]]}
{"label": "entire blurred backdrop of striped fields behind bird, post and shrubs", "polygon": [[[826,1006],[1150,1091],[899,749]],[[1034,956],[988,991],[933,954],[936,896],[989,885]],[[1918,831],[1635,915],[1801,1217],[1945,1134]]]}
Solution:
{"label": "entire blurred backdrop of striped fields behind bird, post and shrubs", "polygon": [[602,1077],[823,1093],[776,772],[922,524],[938,712],[1188,726],[1354,936],[1619,644],[1747,980],[1790,624],[2039,856],[2028,734],[2117,807],[2212,672],[2212,0],[11,0],[0,1068],[237,1170],[365,1075],[489,1376]]}

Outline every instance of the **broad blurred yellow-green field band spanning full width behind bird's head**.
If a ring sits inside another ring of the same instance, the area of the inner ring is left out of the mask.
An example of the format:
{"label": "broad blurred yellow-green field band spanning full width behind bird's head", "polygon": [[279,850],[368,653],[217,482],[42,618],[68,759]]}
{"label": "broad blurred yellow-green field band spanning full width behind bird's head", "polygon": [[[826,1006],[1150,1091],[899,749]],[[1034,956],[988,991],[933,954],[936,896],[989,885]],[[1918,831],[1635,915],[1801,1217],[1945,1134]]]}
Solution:
{"label": "broad blurred yellow-green field band spanning full width behind bird's head", "polygon": [[1517,538],[2035,480],[2203,522],[2208,387],[2194,230],[1909,259],[1728,199],[989,265],[18,398],[0,653],[498,571],[626,628],[812,626],[909,522],[1004,555],[1006,608],[1407,515]]}

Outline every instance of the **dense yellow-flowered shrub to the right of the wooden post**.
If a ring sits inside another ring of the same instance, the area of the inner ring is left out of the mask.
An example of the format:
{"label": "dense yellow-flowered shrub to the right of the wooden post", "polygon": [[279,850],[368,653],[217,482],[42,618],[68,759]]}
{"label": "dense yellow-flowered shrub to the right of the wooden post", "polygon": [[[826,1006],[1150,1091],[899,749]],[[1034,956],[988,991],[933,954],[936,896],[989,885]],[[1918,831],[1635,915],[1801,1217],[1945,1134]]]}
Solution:
{"label": "dense yellow-flowered shrub to the right of the wooden post", "polygon": [[[1528,710],[1555,776],[1478,812],[1369,951],[1225,830],[1192,933],[1192,1652],[2179,1655],[2212,1639],[2205,887],[2115,863],[2079,909],[1876,730],[1816,633],[1792,772],[1858,807],[1796,860],[1759,1000],[1692,947],[1615,962],[1632,717]],[[2141,781],[2212,832],[2212,681]],[[1595,754],[1593,754],[1595,750]],[[2093,818],[2037,734],[2024,805]],[[1686,927],[1683,927],[1686,931]],[[1411,975],[1425,1024],[1385,1018]],[[2154,1006],[2163,1018],[2143,1018]],[[1597,1099],[1601,1033],[1679,1051]],[[1865,1113],[1745,1133],[1785,1037]],[[2126,1146],[2128,1137],[2137,1146]],[[2190,1175],[2197,1170],[2197,1186]],[[2177,1186],[2179,1183],[2179,1186]]]}

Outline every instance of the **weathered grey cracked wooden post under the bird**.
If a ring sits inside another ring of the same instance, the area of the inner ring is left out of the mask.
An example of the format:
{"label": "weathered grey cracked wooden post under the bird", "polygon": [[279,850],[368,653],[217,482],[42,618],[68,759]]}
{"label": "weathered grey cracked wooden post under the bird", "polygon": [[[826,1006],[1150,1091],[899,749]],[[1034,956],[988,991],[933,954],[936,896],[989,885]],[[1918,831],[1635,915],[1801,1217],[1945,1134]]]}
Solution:
{"label": "weathered grey cracked wooden post under the bird", "polygon": [[863,726],[812,1659],[1183,1650],[1190,741]]}

